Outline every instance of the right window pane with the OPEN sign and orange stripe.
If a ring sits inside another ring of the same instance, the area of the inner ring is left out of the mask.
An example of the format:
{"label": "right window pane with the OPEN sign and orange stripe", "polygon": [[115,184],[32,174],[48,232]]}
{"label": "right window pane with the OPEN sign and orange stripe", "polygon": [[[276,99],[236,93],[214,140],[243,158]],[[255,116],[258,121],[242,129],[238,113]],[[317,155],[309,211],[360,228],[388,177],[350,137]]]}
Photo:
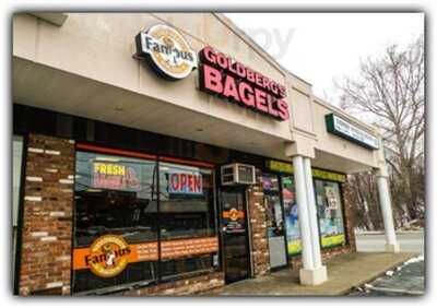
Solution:
{"label": "right window pane with the OPEN sign and orange stripe", "polygon": [[160,163],[161,274],[213,268],[217,253],[211,169]]}

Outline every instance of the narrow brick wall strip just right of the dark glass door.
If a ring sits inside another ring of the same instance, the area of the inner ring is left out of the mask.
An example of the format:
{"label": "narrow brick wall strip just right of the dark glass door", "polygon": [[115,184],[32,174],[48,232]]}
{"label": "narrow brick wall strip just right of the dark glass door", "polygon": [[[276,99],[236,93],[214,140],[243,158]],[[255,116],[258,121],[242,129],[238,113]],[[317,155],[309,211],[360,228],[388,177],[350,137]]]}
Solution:
{"label": "narrow brick wall strip just right of the dark glass door", "polygon": [[248,188],[248,212],[255,276],[270,271],[269,242],[267,238],[264,193],[261,174],[257,170],[257,183]]}

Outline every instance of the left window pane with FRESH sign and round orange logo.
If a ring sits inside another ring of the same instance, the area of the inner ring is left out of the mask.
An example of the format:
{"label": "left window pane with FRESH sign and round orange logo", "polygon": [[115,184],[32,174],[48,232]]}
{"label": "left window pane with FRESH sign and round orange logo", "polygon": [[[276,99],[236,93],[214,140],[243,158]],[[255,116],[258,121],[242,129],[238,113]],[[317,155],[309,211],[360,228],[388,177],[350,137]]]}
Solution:
{"label": "left window pane with FRESH sign and round orange logo", "polygon": [[73,291],[154,281],[156,162],[76,152]]}

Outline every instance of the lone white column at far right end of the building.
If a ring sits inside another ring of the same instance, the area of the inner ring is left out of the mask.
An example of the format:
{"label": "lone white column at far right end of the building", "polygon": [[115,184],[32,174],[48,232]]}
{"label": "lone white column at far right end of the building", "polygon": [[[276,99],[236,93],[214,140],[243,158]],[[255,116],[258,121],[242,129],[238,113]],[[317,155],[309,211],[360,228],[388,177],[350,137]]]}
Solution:
{"label": "lone white column at far right end of the building", "polygon": [[379,171],[377,178],[378,178],[379,203],[381,206],[383,227],[386,230],[386,251],[399,252],[400,249],[394,230],[390,190],[387,181],[387,176],[381,174],[381,171]]}

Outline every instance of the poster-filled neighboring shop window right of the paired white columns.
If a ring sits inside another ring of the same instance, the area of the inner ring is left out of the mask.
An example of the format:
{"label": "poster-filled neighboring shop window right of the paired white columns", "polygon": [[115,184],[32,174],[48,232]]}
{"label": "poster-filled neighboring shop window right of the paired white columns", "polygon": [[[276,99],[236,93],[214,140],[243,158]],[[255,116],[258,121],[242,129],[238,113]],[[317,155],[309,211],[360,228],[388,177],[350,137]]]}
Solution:
{"label": "poster-filled neighboring shop window right of the paired white columns", "polygon": [[316,179],[315,186],[321,247],[345,245],[340,185]]}

